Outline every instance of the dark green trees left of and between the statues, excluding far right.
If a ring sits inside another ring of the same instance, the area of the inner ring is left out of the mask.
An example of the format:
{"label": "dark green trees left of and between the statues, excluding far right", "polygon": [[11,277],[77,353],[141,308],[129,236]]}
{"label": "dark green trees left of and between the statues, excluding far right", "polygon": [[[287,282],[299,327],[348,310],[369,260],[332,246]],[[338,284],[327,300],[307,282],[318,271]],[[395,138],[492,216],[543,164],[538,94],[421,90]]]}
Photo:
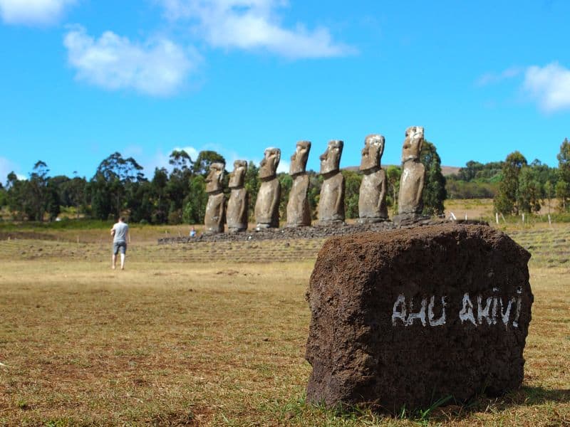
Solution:
{"label": "dark green trees left of and between the statues, excluding far right", "polygon": [[[441,160],[435,145],[425,142],[421,161],[425,165],[426,180],[423,194],[425,214],[443,213],[446,198],[445,177],[441,172]],[[65,175],[51,176],[48,165],[38,161],[28,179],[19,179],[11,172],[6,185],[0,184],[0,208],[16,221],[53,221],[62,211],[77,218],[108,220],[120,215],[128,216],[130,222],[152,224],[203,223],[207,204],[205,192],[209,165],[224,162],[221,154],[214,151],[199,152],[192,159],[184,150],[170,154],[170,171],[156,168],[148,179],[142,167],[133,157],[123,157],[119,152],[110,154],[98,165],[90,178]],[[352,168],[351,168],[352,169]],[[358,218],[358,191],[362,175],[345,169],[345,212],[347,218]],[[254,205],[261,181],[259,167],[249,162],[245,187],[249,191],[249,221],[254,222]],[[316,218],[318,197],[323,182],[322,176],[308,171],[310,179],[309,204]],[[387,203],[393,213],[397,212],[401,168],[386,168]],[[289,174],[278,174],[281,182],[279,214],[286,218],[286,206],[293,180]],[[229,174],[224,173],[224,188],[229,197]]]}

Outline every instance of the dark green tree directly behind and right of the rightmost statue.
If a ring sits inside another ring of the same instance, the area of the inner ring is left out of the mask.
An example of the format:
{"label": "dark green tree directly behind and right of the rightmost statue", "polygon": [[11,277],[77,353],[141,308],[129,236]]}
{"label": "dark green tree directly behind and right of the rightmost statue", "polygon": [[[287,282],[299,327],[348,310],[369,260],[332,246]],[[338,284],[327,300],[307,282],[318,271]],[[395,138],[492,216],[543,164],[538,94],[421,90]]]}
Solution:
{"label": "dark green tree directly behind and right of the rightmost statue", "polygon": [[445,191],[445,176],[441,173],[441,159],[434,144],[424,141],[420,161],[425,166],[423,213],[441,215],[445,210],[443,201],[447,199],[447,192]]}

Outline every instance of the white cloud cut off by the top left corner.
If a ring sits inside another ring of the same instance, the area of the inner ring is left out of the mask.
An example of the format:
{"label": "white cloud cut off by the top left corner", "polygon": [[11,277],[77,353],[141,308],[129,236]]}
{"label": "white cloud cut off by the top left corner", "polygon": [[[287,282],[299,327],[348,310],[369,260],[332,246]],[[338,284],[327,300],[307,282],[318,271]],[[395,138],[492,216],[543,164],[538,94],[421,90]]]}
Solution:
{"label": "white cloud cut off by the top left corner", "polygon": [[58,21],[74,3],[76,0],[0,0],[0,15],[5,23],[47,25]]}

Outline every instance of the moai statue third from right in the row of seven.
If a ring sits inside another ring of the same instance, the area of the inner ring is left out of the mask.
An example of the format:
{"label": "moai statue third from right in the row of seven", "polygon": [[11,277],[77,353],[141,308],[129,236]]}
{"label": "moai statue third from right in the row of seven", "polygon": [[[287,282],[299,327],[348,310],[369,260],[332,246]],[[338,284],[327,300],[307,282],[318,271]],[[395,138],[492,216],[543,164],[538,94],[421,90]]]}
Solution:
{"label": "moai statue third from right in the row of seven", "polygon": [[344,223],[344,176],[339,165],[343,154],[342,141],[330,141],[321,154],[321,197],[318,201],[318,225],[331,226]]}

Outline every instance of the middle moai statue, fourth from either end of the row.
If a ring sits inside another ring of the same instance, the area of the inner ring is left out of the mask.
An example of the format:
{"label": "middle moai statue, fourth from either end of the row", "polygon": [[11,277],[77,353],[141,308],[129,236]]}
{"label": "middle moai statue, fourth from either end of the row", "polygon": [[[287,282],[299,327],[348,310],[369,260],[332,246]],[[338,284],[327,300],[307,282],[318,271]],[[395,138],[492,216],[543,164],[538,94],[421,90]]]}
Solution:
{"label": "middle moai statue, fourth from either end of the row", "polygon": [[293,178],[293,185],[289,191],[287,202],[288,227],[301,227],[311,225],[311,210],[309,209],[309,175],[305,172],[311,142],[299,141],[295,153],[291,156],[289,174]]}

